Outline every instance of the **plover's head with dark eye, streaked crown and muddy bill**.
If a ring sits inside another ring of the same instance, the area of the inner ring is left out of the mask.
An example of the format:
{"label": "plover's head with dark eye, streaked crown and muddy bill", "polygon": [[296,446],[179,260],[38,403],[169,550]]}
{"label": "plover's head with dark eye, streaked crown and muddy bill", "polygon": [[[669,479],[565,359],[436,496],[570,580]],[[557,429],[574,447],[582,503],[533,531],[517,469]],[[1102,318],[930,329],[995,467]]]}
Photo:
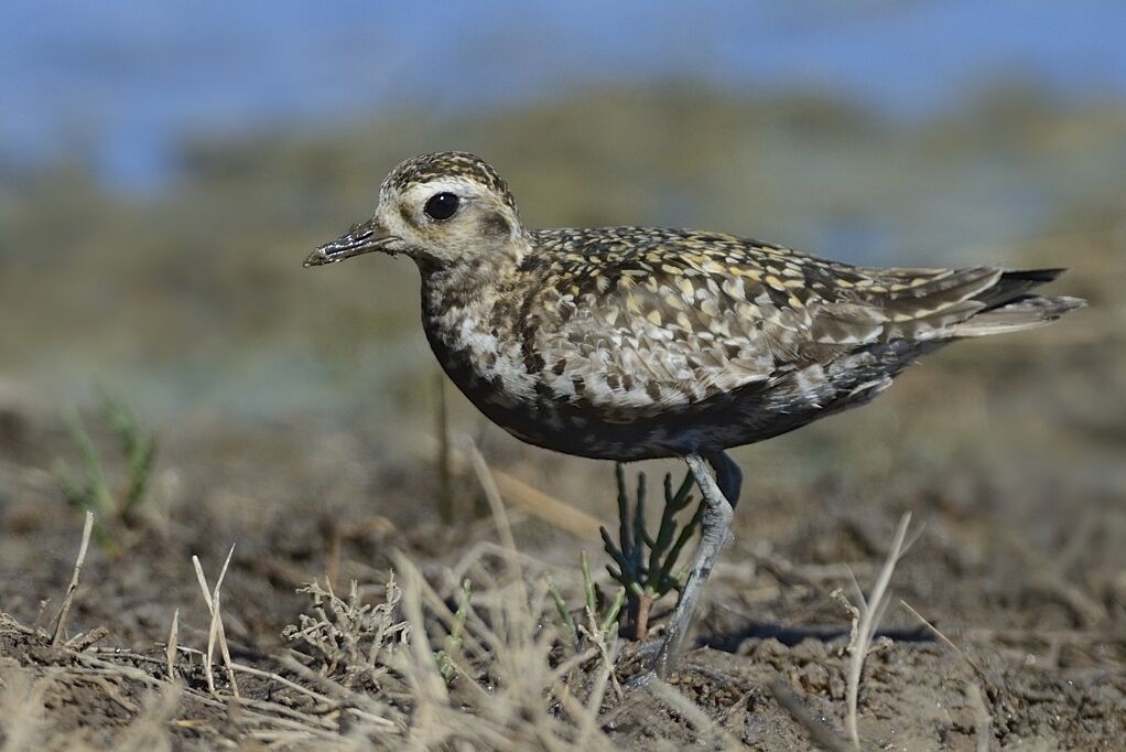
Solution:
{"label": "plover's head with dark eye, streaked crown and muddy bill", "polygon": [[305,259],[321,266],[374,250],[431,266],[479,265],[522,255],[524,230],[508,185],[480,157],[462,151],[400,163],[379,187],[379,203]]}

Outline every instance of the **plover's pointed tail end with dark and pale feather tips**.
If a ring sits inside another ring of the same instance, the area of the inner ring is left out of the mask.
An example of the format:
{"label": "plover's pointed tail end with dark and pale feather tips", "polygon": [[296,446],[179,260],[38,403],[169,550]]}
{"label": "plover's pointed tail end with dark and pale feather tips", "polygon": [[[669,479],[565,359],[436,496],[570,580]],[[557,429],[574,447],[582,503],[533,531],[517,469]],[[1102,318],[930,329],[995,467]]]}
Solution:
{"label": "plover's pointed tail end with dark and pale feather tips", "polygon": [[1030,295],[1029,290],[1052,282],[1064,269],[1018,269],[1004,272],[997,283],[973,300],[984,308],[953,327],[954,337],[986,337],[1047,326],[1087,301],[1070,295]]}

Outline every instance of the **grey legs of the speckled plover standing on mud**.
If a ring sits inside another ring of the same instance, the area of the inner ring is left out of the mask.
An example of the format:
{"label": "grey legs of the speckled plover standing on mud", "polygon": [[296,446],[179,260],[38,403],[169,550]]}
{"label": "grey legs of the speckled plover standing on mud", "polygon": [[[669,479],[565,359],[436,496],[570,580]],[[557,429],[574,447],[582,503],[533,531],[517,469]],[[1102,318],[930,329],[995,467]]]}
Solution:
{"label": "grey legs of the speckled plover standing on mud", "polygon": [[[734,468],[735,475],[731,476],[730,468],[734,467],[734,462],[723,453],[716,457],[722,459],[709,459],[713,462],[717,462],[722,468],[725,468],[721,469],[721,467],[717,467],[720,477],[727,484],[729,490],[738,494],[742,474],[739,472],[739,468]],[[677,602],[677,609],[672,612],[672,619],[669,621],[669,631],[665,634],[664,643],[661,645],[661,652],[656,656],[656,675],[661,679],[668,675],[669,669],[680,652],[680,644],[688,631],[688,626],[691,623],[696,602],[704,591],[704,583],[707,582],[708,575],[712,574],[712,567],[715,565],[716,557],[720,556],[720,549],[727,542],[727,537],[731,534],[731,520],[734,516],[732,505],[720,490],[720,486],[715,479],[712,478],[712,474],[708,472],[707,467],[704,465],[704,459],[699,454],[688,454],[685,457],[685,461],[688,463],[688,469],[691,471],[692,478],[695,478],[696,485],[704,496],[705,507],[704,515],[700,519],[699,549],[696,551],[696,559],[688,572],[685,586],[680,591],[680,600]]]}

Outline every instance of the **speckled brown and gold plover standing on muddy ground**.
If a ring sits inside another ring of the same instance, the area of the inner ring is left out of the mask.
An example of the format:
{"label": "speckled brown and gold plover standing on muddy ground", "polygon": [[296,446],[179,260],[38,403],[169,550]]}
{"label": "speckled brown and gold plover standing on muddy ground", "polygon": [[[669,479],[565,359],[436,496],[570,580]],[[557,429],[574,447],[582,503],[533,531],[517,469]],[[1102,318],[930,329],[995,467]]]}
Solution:
{"label": "speckled brown and gold plover standing on muddy ground", "polygon": [[864,405],[949,343],[1084,304],[1031,292],[1062,268],[869,268],[722,232],[528,229],[498,171],[463,151],[401,162],[374,215],[304,266],[372,251],[415,263],[431,350],[493,423],[565,454],[686,462],[700,541],[660,676],[730,537],[742,474],[729,450]]}

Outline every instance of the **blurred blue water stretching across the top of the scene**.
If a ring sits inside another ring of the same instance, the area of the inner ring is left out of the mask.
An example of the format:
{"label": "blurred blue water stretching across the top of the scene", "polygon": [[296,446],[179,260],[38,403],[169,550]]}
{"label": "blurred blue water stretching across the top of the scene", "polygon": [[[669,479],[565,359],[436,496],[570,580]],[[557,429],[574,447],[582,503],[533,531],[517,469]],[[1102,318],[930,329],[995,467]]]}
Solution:
{"label": "blurred blue water stretching across the top of the scene", "polygon": [[81,159],[110,184],[169,174],[198,132],[435,117],[605,81],[813,89],[893,115],[1001,78],[1126,92],[1126,3],[626,0],[231,3],[7,0],[0,156]]}

